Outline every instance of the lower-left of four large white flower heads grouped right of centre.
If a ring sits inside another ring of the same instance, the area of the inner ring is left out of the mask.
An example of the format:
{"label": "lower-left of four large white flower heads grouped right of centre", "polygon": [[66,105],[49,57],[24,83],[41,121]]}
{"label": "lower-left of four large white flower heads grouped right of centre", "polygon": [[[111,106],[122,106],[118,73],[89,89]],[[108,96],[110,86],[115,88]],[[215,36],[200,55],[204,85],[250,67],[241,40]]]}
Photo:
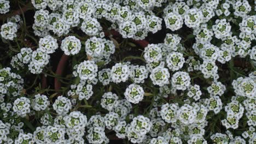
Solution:
{"label": "lower-left of four large white flower heads grouped right of centre", "polygon": [[152,70],[149,77],[154,85],[158,85],[160,87],[170,83],[170,73],[167,68],[156,67]]}

